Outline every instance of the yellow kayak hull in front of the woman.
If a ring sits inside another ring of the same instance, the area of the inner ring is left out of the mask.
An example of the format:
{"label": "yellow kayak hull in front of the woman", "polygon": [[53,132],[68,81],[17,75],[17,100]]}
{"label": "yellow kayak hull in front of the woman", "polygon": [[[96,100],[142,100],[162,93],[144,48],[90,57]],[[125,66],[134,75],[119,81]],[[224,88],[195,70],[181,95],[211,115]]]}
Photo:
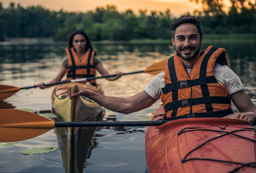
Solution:
{"label": "yellow kayak hull in front of the woman", "polygon": [[75,117],[71,114],[71,99],[67,95],[68,86],[80,85],[92,91],[103,93],[100,86],[86,85],[76,82],[56,85],[52,91],[52,109],[63,121],[91,121],[94,116],[102,114],[105,110],[98,103],[88,97],[76,97]]}

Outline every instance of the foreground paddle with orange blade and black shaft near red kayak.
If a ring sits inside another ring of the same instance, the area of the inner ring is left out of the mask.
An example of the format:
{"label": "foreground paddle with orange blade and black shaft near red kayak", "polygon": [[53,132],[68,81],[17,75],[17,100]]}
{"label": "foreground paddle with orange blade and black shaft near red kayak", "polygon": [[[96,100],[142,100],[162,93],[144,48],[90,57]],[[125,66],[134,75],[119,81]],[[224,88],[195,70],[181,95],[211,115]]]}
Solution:
{"label": "foreground paddle with orange blade and black shaft near red kayak", "polygon": [[54,122],[32,112],[0,110],[0,142],[15,142],[39,136],[54,127],[159,126],[169,121]]}

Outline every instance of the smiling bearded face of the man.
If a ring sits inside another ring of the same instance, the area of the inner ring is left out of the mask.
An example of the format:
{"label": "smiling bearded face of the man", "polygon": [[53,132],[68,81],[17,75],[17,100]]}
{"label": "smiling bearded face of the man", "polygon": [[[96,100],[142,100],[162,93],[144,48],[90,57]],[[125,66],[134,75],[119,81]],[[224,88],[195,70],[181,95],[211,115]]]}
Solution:
{"label": "smiling bearded face of the man", "polygon": [[189,61],[195,57],[200,57],[199,52],[203,43],[203,36],[200,38],[198,28],[195,25],[181,24],[176,28],[172,40],[175,51],[180,58]]}

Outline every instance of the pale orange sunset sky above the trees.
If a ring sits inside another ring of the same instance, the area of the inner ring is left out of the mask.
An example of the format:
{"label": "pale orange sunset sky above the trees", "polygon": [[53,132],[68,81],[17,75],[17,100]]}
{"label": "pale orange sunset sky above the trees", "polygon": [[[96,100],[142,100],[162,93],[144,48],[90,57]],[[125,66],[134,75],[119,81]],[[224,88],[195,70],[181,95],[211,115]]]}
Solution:
{"label": "pale orange sunset sky above the trees", "polygon": [[87,12],[95,10],[96,7],[106,7],[107,5],[115,5],[118,12],[125,12],[127,9],[132,9],[134,13],[138,10],[147,9],[148,12],[156,10],[164,12],[170,9],[173,16],[180,16],[186,12],[192,14],[193,10],[200,9],[200,5],[189,0],[0,0],[3,7],[8,7],[10,2],[21,6],[36,6],[41,5],[49,10],[63,9],[65,12]]}

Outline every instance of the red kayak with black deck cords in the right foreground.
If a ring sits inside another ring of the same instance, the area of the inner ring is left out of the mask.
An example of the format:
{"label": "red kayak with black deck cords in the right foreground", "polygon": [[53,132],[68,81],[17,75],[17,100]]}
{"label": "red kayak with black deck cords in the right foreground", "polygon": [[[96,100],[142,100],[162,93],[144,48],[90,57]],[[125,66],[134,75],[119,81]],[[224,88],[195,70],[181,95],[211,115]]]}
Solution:
{"label": "red kayak with black deck cords in the right foreground", "polygon": [[[160,106],[151,120],[162,119]],[[256,130],[230,118],[177,119],[147,128],[148,172],[256,172]]]}

